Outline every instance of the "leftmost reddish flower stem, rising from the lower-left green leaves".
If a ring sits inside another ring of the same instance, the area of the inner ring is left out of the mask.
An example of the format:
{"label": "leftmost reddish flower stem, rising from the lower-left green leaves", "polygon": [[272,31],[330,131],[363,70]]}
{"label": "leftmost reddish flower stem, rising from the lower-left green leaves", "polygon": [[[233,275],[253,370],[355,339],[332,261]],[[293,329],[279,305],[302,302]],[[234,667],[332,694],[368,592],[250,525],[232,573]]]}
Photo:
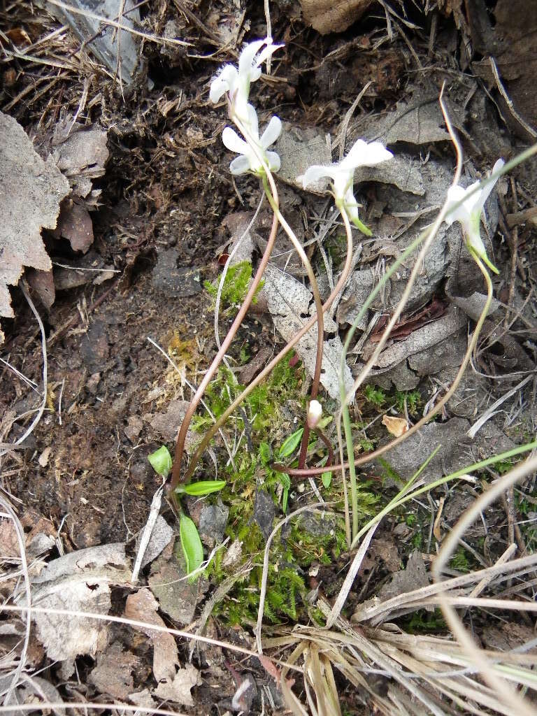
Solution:
{"label": "leftmost reddish flower stem, rising from the lower-left green leaves", "polygon": [[[200,382],[198,386],[198,390],[196,390],[195,395],[193,399],[190,401],[190,405],[188,406],[188,409],[185,413],[185,417],[183,418],[183,422],[181,423],[181,427],[179,430],[179,435],[177,437],[177,442],[175,443],[175,455],[173,457],[173,470],[172,470],[172,480],[170,483],[170,493],[173,495],[173,490],[177,487],[180,481],[180,470],[181,470],[181,461],[183,459],[183,453],[185,450],[185,438],[186,433],[188,430],[188,426],[190,425],[190,420],[192,420],[192,416],[195,413],[195,410],[197,409],[200,400],[203,397],[203,393],[205,392],[205,389],[207,388],[209,382],[211,382],[211,379],[213,378],[213,375],[218,370],[218,366],[221,364],[221,361],[226,354],[231,341],[235,337],[236,332],[238,331],[239,327],[241,326],[241,323],[243,322],[244,316],[246,316],[246,311],[248,311],[248,308],[250,307],[250,304],[252,302],[253,296],[255,296],[256,291],[258,289],[259,283],[261,279],[263,278],[263,274],[265,273],[266,265],[269,263],[269,258],[271,257],[272,249],[274,248],[274,242],[276,241],[276,233],[278,231],[278,217],[276,214],[274,214],[274,218],[272,219],[272,226],[271,226],[271,233],[269,236],[269,241],[266,244],[265,252],[263,253],[263,256],[261,257],[261,262],[259,263],[258,269],[256,271],[256,276],[254,276],[253,281],[251,283],[250,289],[248,290],[248,294],[246,294],[246,299],[244,299],[243,304],[241,308],[238,311],[238,314],[235,317],[235,320],[233,321],[233,324],[231,325],[231,328],[228,331],[228,334],[226,335],[226,338],[223,339],[223,342],[221,344],[220,350],[216,354],[216,356],[213,358],[213,362],[211,363],[210,367],[208,368],[208,371],[203,376],[203,380]],[[195,463],[194,463],[195,465]],[[186,480],[186,478],[185,478]]]}

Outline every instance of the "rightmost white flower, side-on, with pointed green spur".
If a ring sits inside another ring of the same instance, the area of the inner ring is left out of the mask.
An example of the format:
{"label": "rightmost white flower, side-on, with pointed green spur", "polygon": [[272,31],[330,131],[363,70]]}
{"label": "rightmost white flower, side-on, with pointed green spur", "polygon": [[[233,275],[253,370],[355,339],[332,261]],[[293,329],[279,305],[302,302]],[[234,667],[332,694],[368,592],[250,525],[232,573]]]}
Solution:
{"label": "rightmost white flower, side-on, with pointed green spur", "polygon": [[[503,159],[498,161],[493,166],[493,174],[503,167]],[[490,192],[496,185],[499,177],[488,183],[486,186],[478,190],[479,182],[475,182],[468,188],[463,189],[462,186],[450,186],[448,189],[448,214],[445,217],[445,223],[451,225],[454,221],[460,221],[463,226],[463,233],[466,239],[466,245],[471,252],[477,254],[477,256],[487,264],[489,269],[498,274],[499,271],[490,262],[485,244],[483,243],[480,235],[480,221],[481,212],[485,201],[488,199]],[[470,192],[473,192],[471,196],[468,196]],[[453,206],[459,202],[462,202],[457,208],[453,209]]]}

